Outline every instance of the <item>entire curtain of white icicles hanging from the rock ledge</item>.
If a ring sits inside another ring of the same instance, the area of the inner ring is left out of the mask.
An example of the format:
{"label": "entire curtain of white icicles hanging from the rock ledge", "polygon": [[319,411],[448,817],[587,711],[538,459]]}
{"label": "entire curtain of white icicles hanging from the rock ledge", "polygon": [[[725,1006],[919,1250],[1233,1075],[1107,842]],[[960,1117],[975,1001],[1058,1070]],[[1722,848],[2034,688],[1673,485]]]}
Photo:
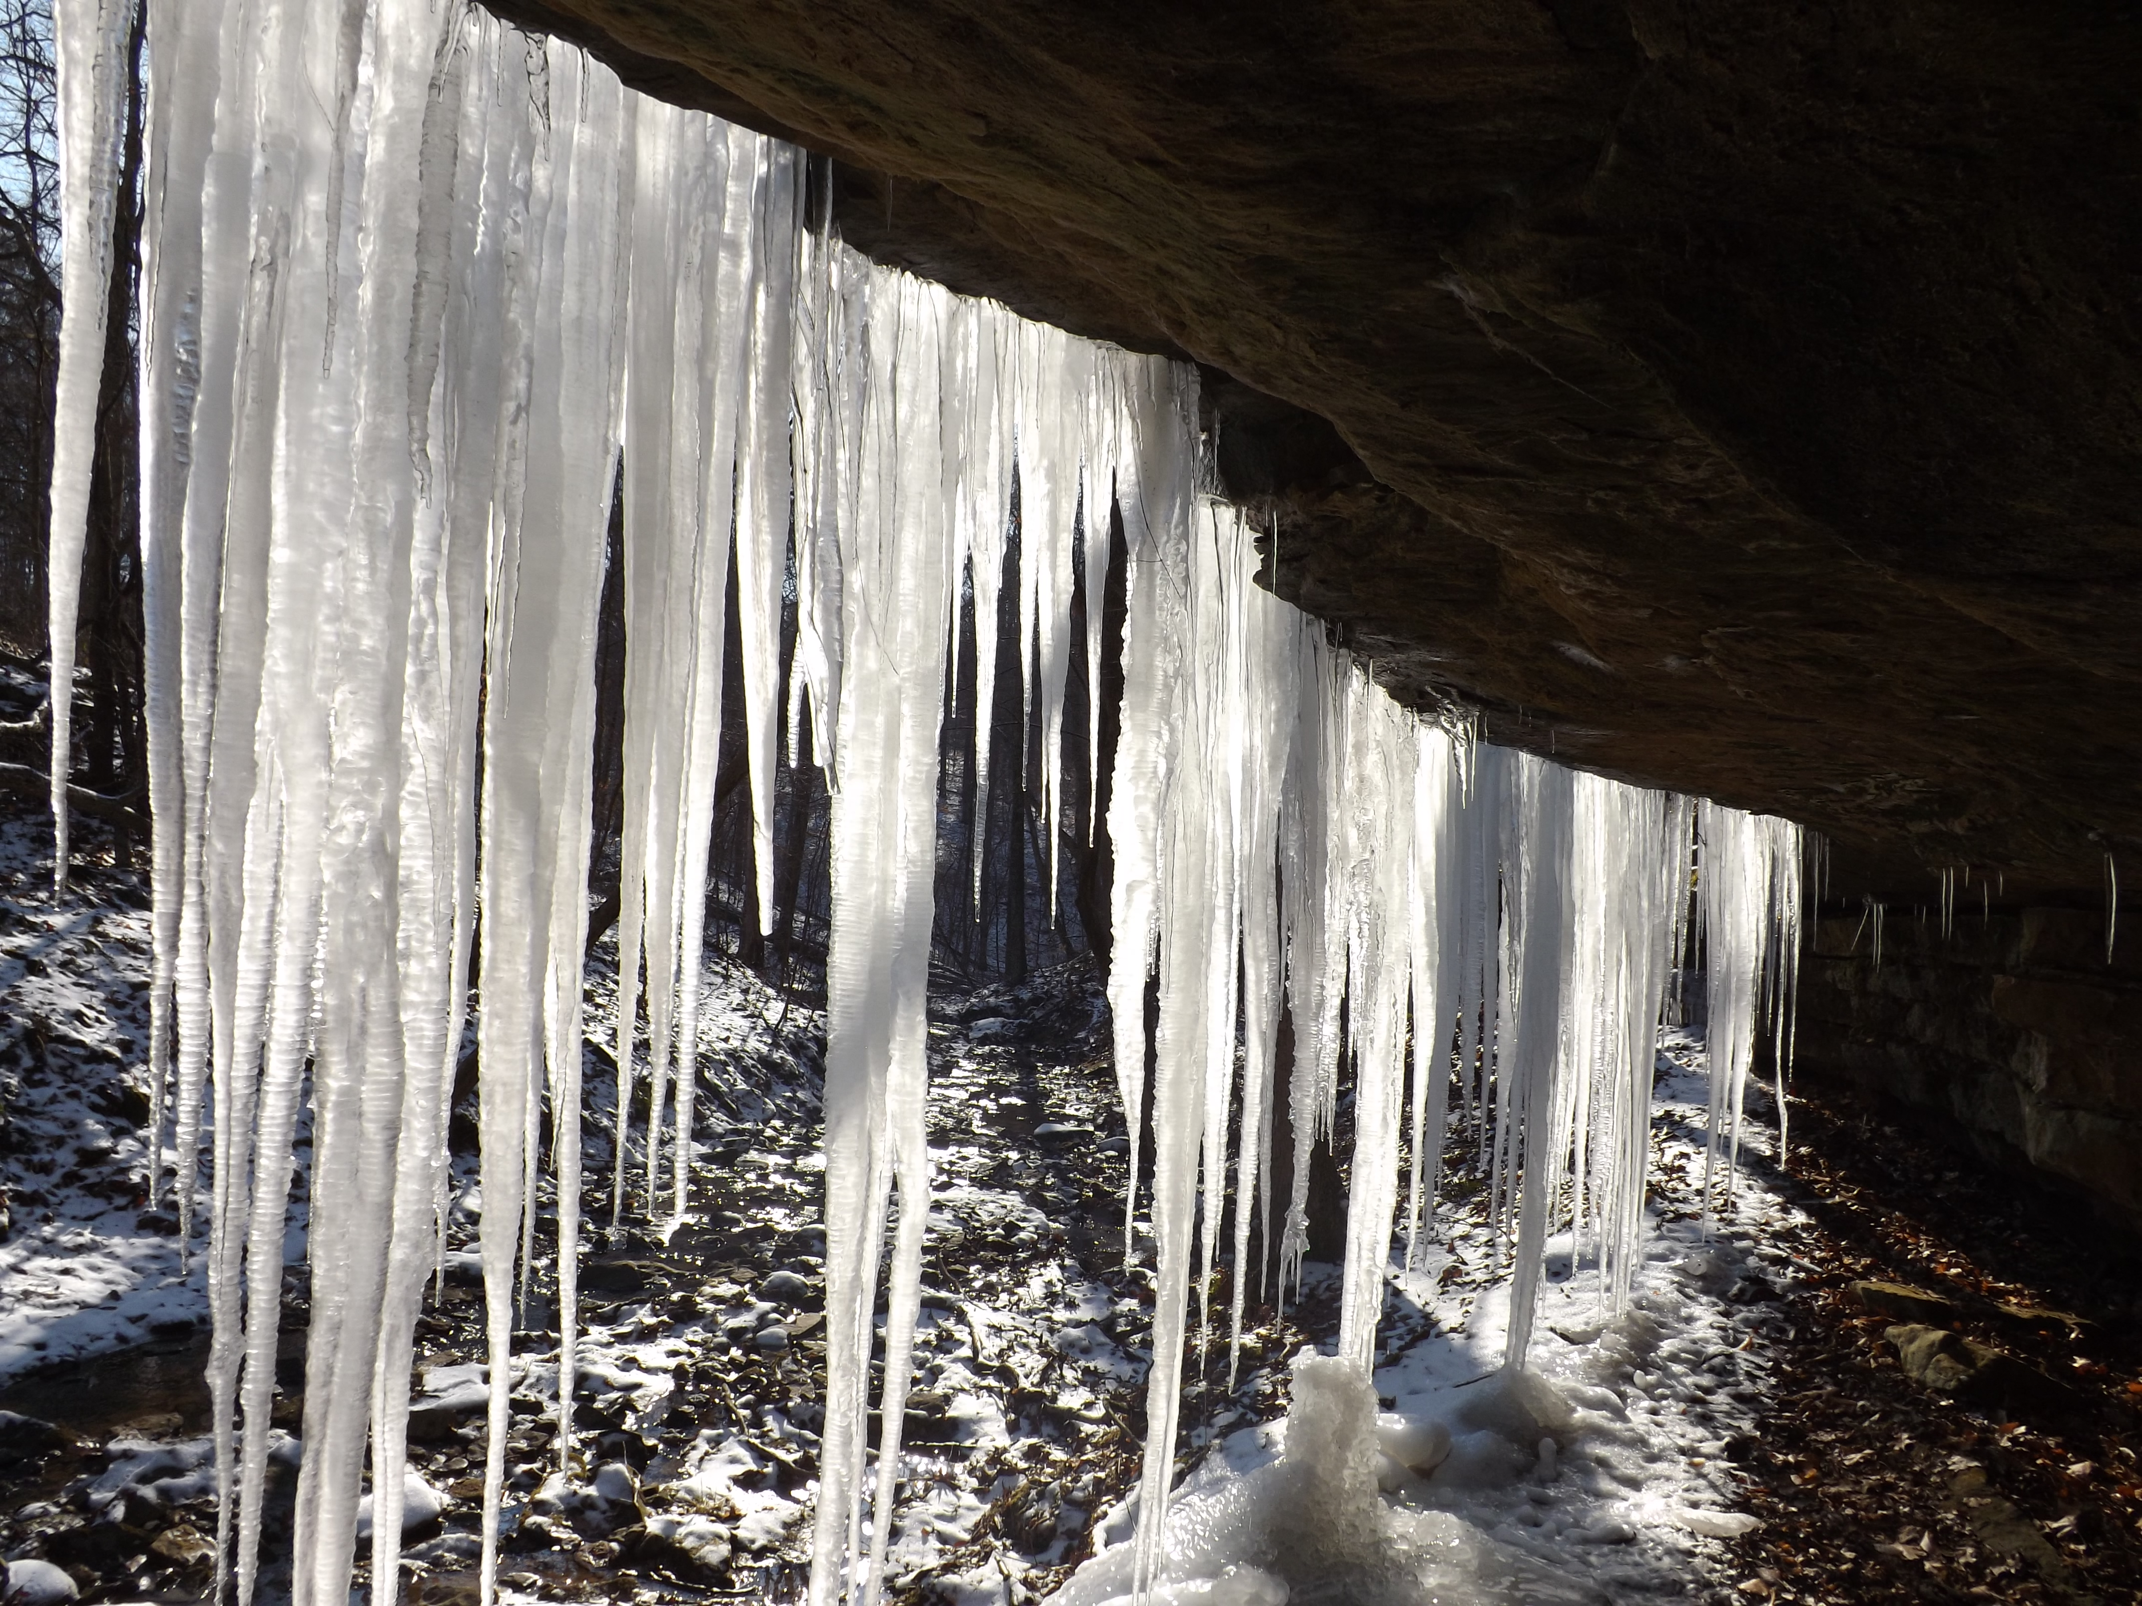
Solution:
{"label": "entire curtain of white icicles hanging from the rock ledge", "polygon": [[[1148,1049],[1155,1064],[1146,1555],[1165,1518],[1189,1289],[1208,1285],[1197,1272],[1219,1253],[1230,1165],[1238,1266],[1253,1201],[1270,1227],[1283,1002],[1300,1043],[1300,1146],[1332,1128],[1343,1056],[1354,1073],[1345,1358],[1373,1360],[1394,1221],[1412,1257],[1452,1088],[1480,1118],[1514,1246],[1510,1362],[1557,1225],[1594,1233],[1626,1293],[1690,842],[1714,1131],[1733,1133],[1754,1036],[1791,1015],[1793,827],[1577,775],[1401,711],[1253,585],[1242,520],[1200,490],[1191,370],[865,263],[810,216],[795,148],[640,99],[578,51],[456,0],[146,4],[152,1073],[159,1133],[174,1088],[182,1212],[208,1094],[216,1111],[210,1383],[227,1495],[218,1555],[240,1602],[259,1570],[300,1113],[308,1101],[315,1161],[293,1591],[298,1606],[343,1606],[366,1458],[405,1460],[471,985],[493,1379],[486,1597],[546,1107],[559,1377],[574,1377],[595,602],[617,486],[628,711],[615,1060],[625,1084],[643,1064],[653,1092],[634,1141],[619,1088],[621,1208],[634,1191],[649,1214],[690,1210],[730,550],[763,914],[775,760],[784,739],[801,752],[803,722],[833,797],[814,1606],[870,1602],[885,1572],[930,1210],[947,653],[970,587],[979,675],[996,664],[1013,478],[1024,702],[1047,756],[1052,842],[1069,655],[1084,651],[1088,683],[1101,681],[1101,608],[1073,640],[1073,572],[1101,595],[1110,501],[1131,557],[1110,996],[1133,1143]],[[58,4],[58,685],[131,13],[131,0]],[[790,707],[784,585],[799,608]],[[983,685],[979,707],[987,698]],[[62,743],[64,709],[54,698]],[[977,741],[987,728],[977,722]],[[977,773],[990,773],[985,754]],[[64,878],[60,792],[56,809]],[[1294,1266],[1307,1176],[1302,1152],[1296,1193],[1279,1201]],[[870,1480],[880,1263],[885,1441]],[[1240,1304],[1238,1278],[1236,1330]],[[563,1383],[568,1469],[570,1413]],[[394,1475],[375,1484],[383,1602],[403,1490]]]}

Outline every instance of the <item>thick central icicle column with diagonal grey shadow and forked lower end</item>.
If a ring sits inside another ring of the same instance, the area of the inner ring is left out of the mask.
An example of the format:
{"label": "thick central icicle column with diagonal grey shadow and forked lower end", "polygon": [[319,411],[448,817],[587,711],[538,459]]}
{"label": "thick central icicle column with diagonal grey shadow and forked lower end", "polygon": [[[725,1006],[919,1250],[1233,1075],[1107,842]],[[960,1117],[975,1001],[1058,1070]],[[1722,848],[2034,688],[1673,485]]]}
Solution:
{"label": "thick central icicle column with diagonal grey shadow and forked lower end", "polygon": [[[872,289],[857,516],[842,529],[842,784],[833,794],[827,955],[827,1420],[810,1600],[874,1602],[900,1467],[921,1246],[925,989],[936,854],[947,587],[938,375],[945,298],[908,278]],[[872,1304],[897,1186],[885,1325],[876,1527],[863,1514]]]}

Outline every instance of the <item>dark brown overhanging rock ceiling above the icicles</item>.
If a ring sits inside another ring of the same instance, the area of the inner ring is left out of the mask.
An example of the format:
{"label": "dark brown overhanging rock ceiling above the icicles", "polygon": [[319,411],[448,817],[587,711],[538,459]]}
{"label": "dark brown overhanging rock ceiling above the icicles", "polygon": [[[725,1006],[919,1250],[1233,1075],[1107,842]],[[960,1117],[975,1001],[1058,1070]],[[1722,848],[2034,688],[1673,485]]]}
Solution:
{"label": "dark brown overhanging rock ceiling above the icicles", "polygon": [[2142,6],[499,0],[1206,366],[1274,589],[1870,878],[2142,880]]}

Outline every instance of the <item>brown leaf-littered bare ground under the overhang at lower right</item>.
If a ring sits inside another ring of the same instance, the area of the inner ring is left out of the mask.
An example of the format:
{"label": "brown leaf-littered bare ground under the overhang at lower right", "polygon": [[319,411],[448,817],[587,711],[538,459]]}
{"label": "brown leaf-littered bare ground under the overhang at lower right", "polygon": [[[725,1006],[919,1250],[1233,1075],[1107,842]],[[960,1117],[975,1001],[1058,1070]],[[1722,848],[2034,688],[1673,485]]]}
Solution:
{"label": "brown leaf-littered bare ground under the overhang at lower right", "polygon": [[1846,1099],[1793,1101],[1804,1281],[1756,1430],[1739,1589],[2142,1600],[2142,1266],[2086,1206]]}

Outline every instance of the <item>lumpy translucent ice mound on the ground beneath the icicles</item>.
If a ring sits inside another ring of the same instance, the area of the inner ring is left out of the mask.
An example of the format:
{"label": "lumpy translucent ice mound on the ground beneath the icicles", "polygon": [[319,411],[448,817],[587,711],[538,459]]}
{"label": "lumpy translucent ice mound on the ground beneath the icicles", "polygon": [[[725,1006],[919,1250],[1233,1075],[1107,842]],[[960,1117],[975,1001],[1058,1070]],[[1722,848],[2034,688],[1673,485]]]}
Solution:
{"label": "lumpy translucent ice mound on the ground beneath the icicles", "polygon": [[[1529,1373],[1484,1379],[1446,1420],[1377,1418],[1375,1388],[1341,1360],[1300,1355],[1285,1452],[1238,1478],[1191,1480],[1167,1514],[1148,1600],[1163,1606],[1574,1606],[1594,1591],[1555,1578],[1450,1512],[1392,1505],[1382,1482],[1429,1471],[1433,1488],[1489,1473],[1472,1441],[1508,1448],[1566,1433],[1570,1409]],[[1056,1591],[1056,1606],[1129,1606],[1135,1544],[1110,1546]]]}

